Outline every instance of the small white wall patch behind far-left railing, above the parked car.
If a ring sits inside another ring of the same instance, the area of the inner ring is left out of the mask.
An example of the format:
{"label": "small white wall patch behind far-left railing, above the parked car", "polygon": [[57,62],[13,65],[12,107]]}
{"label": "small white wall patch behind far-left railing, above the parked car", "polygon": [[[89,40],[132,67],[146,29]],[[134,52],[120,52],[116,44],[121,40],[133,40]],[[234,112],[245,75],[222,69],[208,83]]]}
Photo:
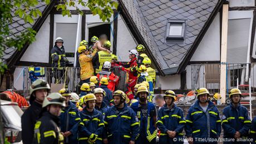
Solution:
{"label": "small white wall patch behind far-left railing, above the parked car", "polygon": [[16,90],[23,90],[23,70],[16,67],[13,73],[13,85]]}

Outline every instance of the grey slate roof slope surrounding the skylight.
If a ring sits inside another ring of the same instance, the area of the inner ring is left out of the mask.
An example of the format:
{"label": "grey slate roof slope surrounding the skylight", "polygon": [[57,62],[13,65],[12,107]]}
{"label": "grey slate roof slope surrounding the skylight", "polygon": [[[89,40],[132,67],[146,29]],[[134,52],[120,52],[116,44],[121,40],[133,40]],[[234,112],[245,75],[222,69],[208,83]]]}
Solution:
{"label": "grey slate roof slope surrounding the skylight", "polygon": [[[218,0],[120,0],[161,69],[179,67]],[[184,41],[166,41],[169,19],[184,19]],[[145,32],[146,29],[146,32]],[[178,69],[178,68],[177,68]]]}

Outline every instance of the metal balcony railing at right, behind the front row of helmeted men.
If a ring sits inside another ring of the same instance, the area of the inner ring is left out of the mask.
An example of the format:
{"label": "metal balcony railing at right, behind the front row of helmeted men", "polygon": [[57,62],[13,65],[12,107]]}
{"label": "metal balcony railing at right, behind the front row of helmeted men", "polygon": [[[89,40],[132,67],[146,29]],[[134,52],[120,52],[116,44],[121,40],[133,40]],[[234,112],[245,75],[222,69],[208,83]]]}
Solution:
{"label": "metal balcony railing at right, behind the front row of helmeted men", "polygon": [[[223,63],[227,68],[227,92],[232,88],[249,90],[251,78],[252,93],[256,88],[256,63]],[[210,93],[220,91],[221,64],[191,64],[191,90],[199,87],[208,88]]]}

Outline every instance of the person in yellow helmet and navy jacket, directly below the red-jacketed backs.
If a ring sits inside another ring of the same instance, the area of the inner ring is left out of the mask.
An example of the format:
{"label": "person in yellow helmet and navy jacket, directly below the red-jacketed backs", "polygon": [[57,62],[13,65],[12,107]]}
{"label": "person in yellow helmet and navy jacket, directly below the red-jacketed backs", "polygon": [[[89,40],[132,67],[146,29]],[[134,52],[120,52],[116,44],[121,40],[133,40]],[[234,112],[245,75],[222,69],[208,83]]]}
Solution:
{"label": "person in yellow helmet and navy jacket, directly below the red-jacketed backs", "polygon": [[107,88],[109,85],[109,80],[106,77],[102,77],[100,80],[100,88],[102,88],[106,92],[106,97],[103,98],[103,101],[106,103],[107,106],[112,106],[114,103],[113,100],[113,92]]}

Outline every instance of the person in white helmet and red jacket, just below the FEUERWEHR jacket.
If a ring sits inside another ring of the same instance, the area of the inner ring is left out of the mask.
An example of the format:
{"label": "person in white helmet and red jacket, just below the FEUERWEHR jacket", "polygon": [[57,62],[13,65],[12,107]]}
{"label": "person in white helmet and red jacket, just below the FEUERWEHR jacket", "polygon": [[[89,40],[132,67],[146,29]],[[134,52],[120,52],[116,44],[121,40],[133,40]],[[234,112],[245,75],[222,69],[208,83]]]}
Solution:
{"label": "person in white helmet and red jacket, just below the FEUERWEHR jacket", "polygon": [[102,77],[106,77],[109,79],[109,88],[110,91],[115,91],[115,86],[118,85],[119,77],[116,76],[113,72],[111,72],[111,63],[109,61],[104,62],[103,69],[97,74],[99,80]]}

